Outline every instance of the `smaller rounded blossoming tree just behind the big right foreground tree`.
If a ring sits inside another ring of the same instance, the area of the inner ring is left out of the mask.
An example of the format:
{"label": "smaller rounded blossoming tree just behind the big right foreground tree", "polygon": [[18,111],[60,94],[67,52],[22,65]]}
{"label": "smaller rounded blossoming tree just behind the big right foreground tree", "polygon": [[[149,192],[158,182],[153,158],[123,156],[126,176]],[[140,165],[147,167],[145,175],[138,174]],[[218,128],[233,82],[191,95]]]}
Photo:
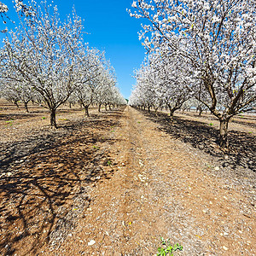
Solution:
{"label": "smaller rounded blossoming tree just behind the big right foreground tree", "polygon": [[[141,69],[137,71],[137,93],[149,108],[168,107],[170,118],[191,96],[188,84],[191,84],[190,71],[180,58],[161,53],[148,55]],[[132,101],[131,101],[132,102]],[[134,104],[134,103],[133,103]]]}

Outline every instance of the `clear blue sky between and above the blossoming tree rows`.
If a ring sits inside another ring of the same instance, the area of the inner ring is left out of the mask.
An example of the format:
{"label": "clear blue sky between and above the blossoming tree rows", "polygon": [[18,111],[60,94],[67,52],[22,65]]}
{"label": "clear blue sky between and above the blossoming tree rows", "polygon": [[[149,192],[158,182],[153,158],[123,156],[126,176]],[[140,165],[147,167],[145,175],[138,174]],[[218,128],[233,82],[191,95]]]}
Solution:
{"label": "clear blue sky between and above the blossoming tree rows", "polygon": [[[15,20],[11,0],[3,3],[9,4],[9,16]],[[54,0],[61,17],[66,17],[75,7],[77,15],[84,20],[84,32],[89,33],[84,34],[84,42],[106,51],[125,98],[129,98],[135,84],[135,79],[131,77],[133,70],[140,67],[145,53],[137,34],[143,20],[131,18],[126,12],[127,8],[131,9],[131,3],[132,0]],[[7,26],[11,24],[8,22]],[[4,27],[2,23],[1,29]]]}

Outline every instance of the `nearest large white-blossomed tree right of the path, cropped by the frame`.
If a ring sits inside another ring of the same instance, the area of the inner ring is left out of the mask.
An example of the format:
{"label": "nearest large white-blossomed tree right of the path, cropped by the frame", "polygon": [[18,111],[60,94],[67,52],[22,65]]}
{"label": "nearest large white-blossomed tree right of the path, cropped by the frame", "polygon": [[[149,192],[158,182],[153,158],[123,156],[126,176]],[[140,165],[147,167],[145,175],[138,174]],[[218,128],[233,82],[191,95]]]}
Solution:
{"label": "nearest large white-blossomed tree right of the path, cropped by the frame", "polygon": [[145,47],[165,45],[193,68],[195,96],[218,118],[219,143],[227,147],[230,118],[256,101],[256,2],[138,0],[132,7],[131,16],[147,20]]}

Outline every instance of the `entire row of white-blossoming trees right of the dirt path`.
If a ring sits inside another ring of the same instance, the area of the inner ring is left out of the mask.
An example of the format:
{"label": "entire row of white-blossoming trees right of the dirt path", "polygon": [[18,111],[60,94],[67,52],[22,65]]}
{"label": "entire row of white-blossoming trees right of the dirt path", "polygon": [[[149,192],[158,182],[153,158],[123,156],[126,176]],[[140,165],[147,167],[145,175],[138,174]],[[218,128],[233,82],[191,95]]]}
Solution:
{"label": "entire row of white-blossoming trees right of the dirt path", "polygon": [[128,10],[143,19],[148,51],[137,70],[130,104],[142,108],[207,108],[227,147],[234,115],[255,111],[254,0],[138,0]]}

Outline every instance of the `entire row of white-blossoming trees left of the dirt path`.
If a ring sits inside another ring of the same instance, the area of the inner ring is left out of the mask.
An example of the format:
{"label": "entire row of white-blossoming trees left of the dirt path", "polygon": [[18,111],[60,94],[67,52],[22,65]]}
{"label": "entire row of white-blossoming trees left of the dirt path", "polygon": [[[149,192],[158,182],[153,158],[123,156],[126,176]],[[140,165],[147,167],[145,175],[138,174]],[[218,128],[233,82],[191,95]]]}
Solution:
{"label": "entire row of white-blossoming trees left of the dirt path", "polygon": [[84,43],[75,12],[61,21],[58,9],[46,2],[30,3],[29,15],[21,7],[20,26],[7,33],[0,52],[1,96],[26,108],[30,101],[48,108],[55,127],[56,109],[65,102],[79,102],[87,114],[91,104],[126,103],[104,52]]}

